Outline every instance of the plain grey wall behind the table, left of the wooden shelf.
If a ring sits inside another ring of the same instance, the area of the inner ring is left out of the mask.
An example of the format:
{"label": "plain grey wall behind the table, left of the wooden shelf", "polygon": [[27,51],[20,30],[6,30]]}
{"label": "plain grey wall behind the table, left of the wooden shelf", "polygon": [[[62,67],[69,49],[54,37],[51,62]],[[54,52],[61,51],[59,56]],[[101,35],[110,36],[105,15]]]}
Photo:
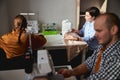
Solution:
{"label": "plain grey wall behind the table, left of the wooden shelf", "polygon": [[8,0],[10,25],[20,12],[35,12],[40,23],[57,23],[69,19],[72,27],[76,26],[76,0]]}

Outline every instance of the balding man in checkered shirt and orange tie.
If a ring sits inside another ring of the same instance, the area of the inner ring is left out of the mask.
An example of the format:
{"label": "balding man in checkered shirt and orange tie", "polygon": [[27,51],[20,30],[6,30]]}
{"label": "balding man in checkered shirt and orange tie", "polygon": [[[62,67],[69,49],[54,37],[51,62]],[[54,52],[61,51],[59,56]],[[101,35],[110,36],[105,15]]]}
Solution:
{"label": "balding man in checkered shirt and orange tie", "polygon": [[87,80],[120,79],[120,19],[113,13],[101,14],[94,29],[100,46],[93,55],[72,70],[61,69],[58,73],[70,77],[90,72]]}

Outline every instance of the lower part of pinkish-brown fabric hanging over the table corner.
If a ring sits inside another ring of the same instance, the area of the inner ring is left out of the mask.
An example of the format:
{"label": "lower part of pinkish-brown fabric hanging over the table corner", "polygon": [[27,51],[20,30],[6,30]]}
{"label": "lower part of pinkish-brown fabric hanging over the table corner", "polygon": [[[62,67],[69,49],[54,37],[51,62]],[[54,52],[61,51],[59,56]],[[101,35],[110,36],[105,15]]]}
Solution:
{"label": "lower part of pinkish-brown fabric hanging over the table corner", "polygon": [[67,47],[67,58],[68,61],[71,61],[74,59],[76,56],[80,54],[83,50],[87,50],[87,43],[85,41],[72,41],[68,40],[66,42],[66,47]]}

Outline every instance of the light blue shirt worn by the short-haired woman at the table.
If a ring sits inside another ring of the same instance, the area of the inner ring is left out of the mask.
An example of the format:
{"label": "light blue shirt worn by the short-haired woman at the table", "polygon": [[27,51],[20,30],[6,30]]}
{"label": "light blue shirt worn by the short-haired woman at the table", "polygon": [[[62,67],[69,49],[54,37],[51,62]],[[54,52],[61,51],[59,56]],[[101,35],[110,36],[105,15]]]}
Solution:
{"label": "light blue shirt worn by the short-haired woman at the table", "polygon": [[85,22],[82,29],[80,29],[80,35],[83,35],[83,40],[88,43],[89,49],[94,50],[98,46],[97,39],[94,37],[94,21]]}

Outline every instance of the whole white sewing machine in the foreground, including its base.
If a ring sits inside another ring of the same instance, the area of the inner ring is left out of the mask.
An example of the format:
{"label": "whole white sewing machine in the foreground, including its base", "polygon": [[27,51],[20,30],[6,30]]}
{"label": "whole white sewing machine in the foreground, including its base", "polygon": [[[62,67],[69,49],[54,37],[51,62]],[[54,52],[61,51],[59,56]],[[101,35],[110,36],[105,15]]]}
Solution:
{"label": "whole white sewing machine in the foreground, including its base", "polygon": [[33,78],[48,77],[50,80],[64,80],[63,75],[56,74],[52,57],[47,50],[37,51],[37,64],[33,66]]}

